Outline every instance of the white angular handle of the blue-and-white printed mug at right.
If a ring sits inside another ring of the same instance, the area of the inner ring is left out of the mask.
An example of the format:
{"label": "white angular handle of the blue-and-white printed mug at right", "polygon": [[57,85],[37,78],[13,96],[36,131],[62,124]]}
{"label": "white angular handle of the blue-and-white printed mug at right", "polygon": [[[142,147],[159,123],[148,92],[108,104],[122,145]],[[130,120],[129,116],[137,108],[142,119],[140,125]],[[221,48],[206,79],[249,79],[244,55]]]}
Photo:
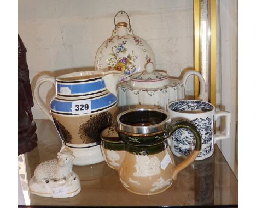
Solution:
{"label": "white angular handle of the blue-and-white printed mug at right", "polygon": [[230,127],[231,127],[231,113],[228,111],[219,111],[215,113],[215,120],[217,120],[217,118],[219,117],[225,117],[225,131],[223,134],[215,134],[213,136],[214,138],[214,144],[218,141],[218,140],[222,140],[222,139],[228,139],[230,137]]}

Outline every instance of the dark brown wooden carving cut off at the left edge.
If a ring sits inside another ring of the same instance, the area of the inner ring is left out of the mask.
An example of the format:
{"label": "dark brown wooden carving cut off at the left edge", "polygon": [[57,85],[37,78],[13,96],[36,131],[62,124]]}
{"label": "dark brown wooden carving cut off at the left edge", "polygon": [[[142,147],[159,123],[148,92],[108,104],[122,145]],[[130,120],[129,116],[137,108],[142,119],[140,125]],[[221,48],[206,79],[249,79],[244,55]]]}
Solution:
{"label": "dark brown wooden carving cut off at the left edge", "polygon": [[34,103],[26,52],[18,34],[18,155],[29,152],[37,146],[37,127],[31,112]]}

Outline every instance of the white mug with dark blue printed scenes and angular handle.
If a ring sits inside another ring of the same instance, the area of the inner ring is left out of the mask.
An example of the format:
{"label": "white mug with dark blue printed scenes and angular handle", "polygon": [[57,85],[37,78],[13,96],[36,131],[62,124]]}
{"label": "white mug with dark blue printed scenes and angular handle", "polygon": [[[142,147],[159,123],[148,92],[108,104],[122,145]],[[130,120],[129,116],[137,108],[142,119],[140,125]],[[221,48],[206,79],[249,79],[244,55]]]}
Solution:
{"label": "white mug with dark blue printed scenes and angular handle", "polygon": [[[210,157],[214,151],[214,144],[221,139],[230,137],[231,113],[216,112],[215,107],[208,102],[198,100],[182,100],[168,104],[168,113],[173,121],[190,121],[199,130],[202,137],[202,148],[196,160]],[[225,117],[224,134],[214,134],[215,121]],[[178,157],[189,156],[193,151],[193,134],[187,129],[178,129],[170,138],[172,153]]]}

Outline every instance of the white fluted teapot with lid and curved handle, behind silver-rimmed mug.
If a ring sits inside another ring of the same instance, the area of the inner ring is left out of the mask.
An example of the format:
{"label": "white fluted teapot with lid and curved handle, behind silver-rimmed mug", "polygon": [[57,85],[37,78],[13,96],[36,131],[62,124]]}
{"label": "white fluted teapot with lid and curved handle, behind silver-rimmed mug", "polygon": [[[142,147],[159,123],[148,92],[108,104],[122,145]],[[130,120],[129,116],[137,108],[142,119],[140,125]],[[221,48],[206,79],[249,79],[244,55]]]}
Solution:
{"label": "white fluted teapot with lid and curved handle, behind silver-rimmed mug", "polygon": [[121,111],[137,107],[167,111],[168,102],[185,99],[185,84],[190,75],[199,78],[199,100],[203,99],[205,81],[199,72],[188,70],[182,79],[173,79],[167,73],[156,71],[152,62],[146,63],[145,69],[131,75],[130,80],[118,84],[118,107]]}

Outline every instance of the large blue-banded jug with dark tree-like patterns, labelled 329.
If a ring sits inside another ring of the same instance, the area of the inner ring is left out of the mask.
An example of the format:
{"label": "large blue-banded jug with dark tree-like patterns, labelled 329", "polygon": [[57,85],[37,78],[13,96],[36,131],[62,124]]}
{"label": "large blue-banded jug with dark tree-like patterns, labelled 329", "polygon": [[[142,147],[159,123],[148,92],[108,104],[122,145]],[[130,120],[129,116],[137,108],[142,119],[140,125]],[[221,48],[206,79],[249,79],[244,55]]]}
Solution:
{"label": "large blue-banded jug with dark tree-like patterns, labelled 329", "polygon": [[[123,73],[83,71],[41,79],[34,98],[54,122],[62,140],[62,149],[72,151],[73,164],[95,164],[104,160],[100,150],[100,132],[111,126],[117,110],[116,85]],[[39,95],[46,81],[56,87],[50,111]]]}

